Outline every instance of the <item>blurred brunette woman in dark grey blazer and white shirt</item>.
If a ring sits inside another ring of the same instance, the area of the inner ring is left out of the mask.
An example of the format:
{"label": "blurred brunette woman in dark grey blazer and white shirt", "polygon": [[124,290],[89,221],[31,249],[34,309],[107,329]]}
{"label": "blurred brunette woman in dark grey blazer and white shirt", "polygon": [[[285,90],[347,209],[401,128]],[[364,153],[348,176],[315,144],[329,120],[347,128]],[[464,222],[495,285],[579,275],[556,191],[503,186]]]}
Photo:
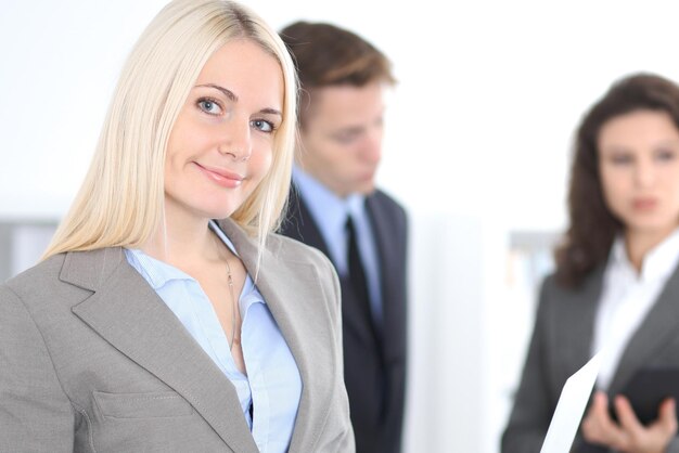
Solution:
{"label": "blurred brunette woman in dark grey blazer and white shirt", "polygon": [[502,452],[540,451],[566,379],[604,347],[573,451],[679,451],[672,399],[642,424],[618,394],[640,371],[679,370],[674,82],[635,75],[594,104],[577,132],[568,202],[571,225],[542,284]]}

